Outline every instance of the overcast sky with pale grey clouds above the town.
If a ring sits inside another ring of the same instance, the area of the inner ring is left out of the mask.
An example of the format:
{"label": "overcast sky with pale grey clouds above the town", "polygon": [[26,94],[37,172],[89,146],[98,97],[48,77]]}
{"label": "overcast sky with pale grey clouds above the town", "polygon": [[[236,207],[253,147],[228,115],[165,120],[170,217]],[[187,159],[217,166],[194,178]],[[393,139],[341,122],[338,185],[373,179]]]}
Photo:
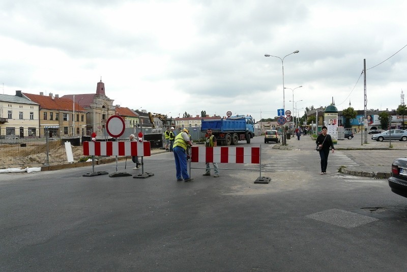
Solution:
{"label": "overcast sky with pale grey clouds above the town", "polygon": [[363,59],[367,108],[395,109],[407,92],[406,10],[401,0],[2,0],[0,84],[63,96],[95,93],[102,77],[131,109],[258,120],[283,100],[293,111],[282,62],[265,54],[299,50],[283,62],[284,86],[302,85],[299,109],[332,98],[363,109]]}

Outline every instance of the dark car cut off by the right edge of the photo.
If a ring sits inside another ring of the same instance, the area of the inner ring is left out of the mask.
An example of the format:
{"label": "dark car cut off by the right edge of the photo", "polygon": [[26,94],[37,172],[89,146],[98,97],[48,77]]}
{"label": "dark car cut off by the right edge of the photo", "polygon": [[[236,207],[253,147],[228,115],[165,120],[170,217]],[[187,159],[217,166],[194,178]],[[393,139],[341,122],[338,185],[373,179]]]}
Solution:
{"label": "dark car cut off by the right edge of the photo", "polygon": [[393,193],[407,197],[407,158],[396,159],[393,162],[388,181]]}

